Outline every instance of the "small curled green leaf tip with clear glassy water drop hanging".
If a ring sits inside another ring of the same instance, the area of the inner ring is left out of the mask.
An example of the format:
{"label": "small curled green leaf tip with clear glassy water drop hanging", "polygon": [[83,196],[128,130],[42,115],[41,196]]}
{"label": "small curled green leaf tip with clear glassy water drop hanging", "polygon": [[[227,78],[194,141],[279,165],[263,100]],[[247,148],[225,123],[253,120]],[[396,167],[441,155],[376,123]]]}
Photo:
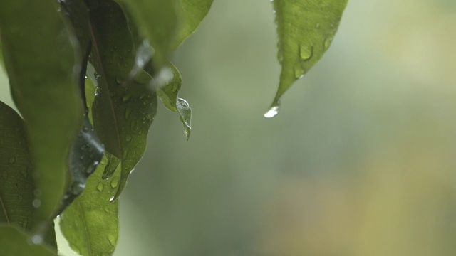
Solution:
{"label": "small curled green leaf tip with clear glassy water drop hanging", "polygon": [[158,86],[157,94],[168,110],[179,113],[180,121],[184,124],[184,134],[188,140],[190,132],[192,132],[192,109],[186,100],[177,97],[177,93],[182,86],[182,77],[175,65],[172,65],[172,63],[169,65],[172,71],[172,79],[165,82],[165,85]]}

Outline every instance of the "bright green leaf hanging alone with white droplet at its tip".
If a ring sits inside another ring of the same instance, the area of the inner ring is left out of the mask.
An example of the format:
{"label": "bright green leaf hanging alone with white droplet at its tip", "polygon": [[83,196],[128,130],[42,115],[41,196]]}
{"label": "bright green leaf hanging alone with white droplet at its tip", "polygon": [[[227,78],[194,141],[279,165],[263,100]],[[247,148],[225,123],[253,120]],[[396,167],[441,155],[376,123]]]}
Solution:
{"label": "bright green leaf hanging alone with white droplet at its tip", "polygon": [[281,63],[279,89],[265,117],[273,117],[293,82],[309,71],[336,34],[347,0],[274,0]]}

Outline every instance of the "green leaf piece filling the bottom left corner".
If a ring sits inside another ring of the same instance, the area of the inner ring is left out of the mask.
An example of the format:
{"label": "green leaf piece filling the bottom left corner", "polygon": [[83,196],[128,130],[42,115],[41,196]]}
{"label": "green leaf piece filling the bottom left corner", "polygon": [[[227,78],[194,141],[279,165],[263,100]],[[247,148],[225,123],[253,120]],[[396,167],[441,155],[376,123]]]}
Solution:
{"label": "green leaf piece filling the bottom left corner", "polygon": [[1,255],[57,256],[56,250],[47,245],[34,245],[31,238],[11,225],[0,225]]}

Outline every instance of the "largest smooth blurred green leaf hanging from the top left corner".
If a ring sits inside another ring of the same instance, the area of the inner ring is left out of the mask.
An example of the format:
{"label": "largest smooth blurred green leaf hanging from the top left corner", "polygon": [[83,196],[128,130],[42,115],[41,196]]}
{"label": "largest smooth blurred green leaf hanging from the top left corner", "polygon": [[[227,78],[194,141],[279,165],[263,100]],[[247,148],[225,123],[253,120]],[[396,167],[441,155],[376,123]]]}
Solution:
{"label": "largest smooth blurred green leaf hanging from the top left corner", "polygon": [[[46,220],[63,196],[68,151],[83,121],[77,85],[81,67],[75,65],[80,53],[57,9],[53,0],[0,1],[6,71],[26,121],[38,178],[37,220]],[[24,18],[24,10],[33,11]]]}

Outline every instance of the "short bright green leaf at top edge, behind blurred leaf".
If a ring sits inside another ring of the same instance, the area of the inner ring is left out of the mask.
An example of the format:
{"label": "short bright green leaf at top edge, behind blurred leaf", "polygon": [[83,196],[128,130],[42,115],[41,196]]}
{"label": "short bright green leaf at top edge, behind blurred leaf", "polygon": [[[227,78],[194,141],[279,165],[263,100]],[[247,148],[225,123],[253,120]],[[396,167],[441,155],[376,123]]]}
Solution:
{"label": "short bright green leaf at top edge, behind blurred leaf", "polygon": [[177,15],[180,27],[175,39],[175,47],[179,46],[186,38],[192,35],[199,23],[207,15],[213,0],[177,0]]}

